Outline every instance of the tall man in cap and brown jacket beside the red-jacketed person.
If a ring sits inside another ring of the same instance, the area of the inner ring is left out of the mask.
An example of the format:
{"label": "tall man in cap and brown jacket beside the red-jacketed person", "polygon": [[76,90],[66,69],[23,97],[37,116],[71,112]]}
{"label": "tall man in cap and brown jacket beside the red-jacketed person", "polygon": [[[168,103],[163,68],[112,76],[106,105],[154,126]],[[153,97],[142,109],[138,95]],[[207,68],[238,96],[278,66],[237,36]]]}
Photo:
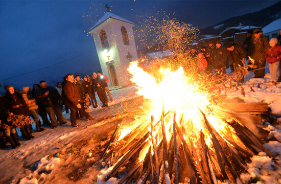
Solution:
{"label": "tall man in cap and brown jacket beside the red-jacketed person", "polygon": [[255,29],[253,35],[249,44],[248,55],[254,59],[254,65],[259,69],[254,71],[254,78],[264,78],[265,54],[269,46],[268,38],[263,36],[263,31],[259,29]]}

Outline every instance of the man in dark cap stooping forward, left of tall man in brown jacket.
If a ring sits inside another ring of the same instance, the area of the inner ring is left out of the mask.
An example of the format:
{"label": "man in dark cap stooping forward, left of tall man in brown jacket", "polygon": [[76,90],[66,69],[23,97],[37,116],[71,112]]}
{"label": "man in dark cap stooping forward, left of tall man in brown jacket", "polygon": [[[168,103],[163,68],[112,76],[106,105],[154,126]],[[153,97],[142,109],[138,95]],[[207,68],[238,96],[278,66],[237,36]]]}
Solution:
{"label": "man in dark cap stooping forward, left of tall man in brown jacket", "polygon": [[240,45],[235,45],[234,43],[227,43],[226,44],[227,49],[227,57],[230,61],[230,65],[233,64],[233,69],[238,75],[239,78],[241,78],[240,83],[244,83],[244,76],[241,73],[240,66],[244,65],[245,58],[247,57],[247,53],[245,49]]}

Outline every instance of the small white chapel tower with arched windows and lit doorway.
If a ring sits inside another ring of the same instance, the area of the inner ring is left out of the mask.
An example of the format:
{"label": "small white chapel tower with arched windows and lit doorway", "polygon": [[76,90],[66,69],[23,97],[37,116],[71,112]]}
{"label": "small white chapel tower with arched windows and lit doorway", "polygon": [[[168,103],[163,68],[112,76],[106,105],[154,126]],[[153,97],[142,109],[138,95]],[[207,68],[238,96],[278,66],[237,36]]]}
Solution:
{"label": "small white chapel tower with arched windows and lit doorway", "polygon": [[132,28],[135,24],[111,12],[87,32],[92,34],[104,75],[108,76],[108,86],[126,86],[130,83],[127,68],[137,60]]}

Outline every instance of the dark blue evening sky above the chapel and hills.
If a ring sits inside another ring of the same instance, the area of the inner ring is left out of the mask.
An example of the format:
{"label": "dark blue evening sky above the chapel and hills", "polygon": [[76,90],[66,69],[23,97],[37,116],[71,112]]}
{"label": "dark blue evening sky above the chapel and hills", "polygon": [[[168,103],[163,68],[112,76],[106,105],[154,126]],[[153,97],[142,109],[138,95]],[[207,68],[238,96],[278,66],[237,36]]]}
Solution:
{"label": "dark blue evening sky above the chapel and hills", "polygon": [[[21,88],[46,80],[53,85],[67,73],[100,70],[95,43],[84,30],[102,17],[105,4],[112,6],[112,13],[136,24],[143,22],[145,14],[159,17],[157,12],[165,11],[166,14],[175,12],[180,21],[205,28],[274,3],[276,1],[1,1],[0,83]],[[136,44],[139,44],[137,38]]]}

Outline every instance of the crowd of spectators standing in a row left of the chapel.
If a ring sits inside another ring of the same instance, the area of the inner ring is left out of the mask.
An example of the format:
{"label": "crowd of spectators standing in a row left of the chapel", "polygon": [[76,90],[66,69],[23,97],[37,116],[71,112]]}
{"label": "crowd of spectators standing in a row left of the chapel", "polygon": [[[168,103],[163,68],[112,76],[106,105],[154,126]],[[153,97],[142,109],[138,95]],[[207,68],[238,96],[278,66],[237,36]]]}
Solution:
{"label": "crowd of spectators standing in a row left of the chapel", "polygon": [[[71,111],[71,125],[77,127],[77,120],[93,118],[85,111],[85,100],[89,97],[93,108],[98,107],[96,95],[98,95],[102,107],[108,107],[108,98],[113,101],[108,89],[108,78],[100,71],[93,73],[92,77],[67,74],[62,82],[56,87],[49,86],[46,81],[41,80],[34,84],[33,89],[29,86],[22,87],[22,91],[15,90],[12,85],[6,85],[6,94],[0,95],[0,147],[7,148],[9,142],[12,148],[20,146],[16,128],[20,129],[22,137],[26,140],[34,138],[32,117],[36,125],[36,131],[43,131],[45,127],[56,128],[66,123],[62,109],[65,106],[66,113]],[[48,114],[48,115],[47,115]],[[39,119],[42,119],[42,122]],[[51,122],[49,121],[49,118]],[[13,118],[11,118],[13,117]],[[21,122],[18,122],[21,121]]]}

